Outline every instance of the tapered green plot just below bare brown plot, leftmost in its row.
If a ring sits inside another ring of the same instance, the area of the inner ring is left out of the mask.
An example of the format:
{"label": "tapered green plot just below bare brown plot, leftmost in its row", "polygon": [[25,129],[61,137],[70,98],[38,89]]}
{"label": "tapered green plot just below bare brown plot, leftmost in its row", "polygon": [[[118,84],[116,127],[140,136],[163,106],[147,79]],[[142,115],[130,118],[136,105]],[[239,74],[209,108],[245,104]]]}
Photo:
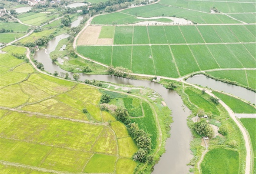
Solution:
{"label": "tapered green plot just below bare brown plot, leftmost in its row", "polygon": [[77,47],[77,52],[84,57],[88,57],[106,65],[111,65],[111,46]]}

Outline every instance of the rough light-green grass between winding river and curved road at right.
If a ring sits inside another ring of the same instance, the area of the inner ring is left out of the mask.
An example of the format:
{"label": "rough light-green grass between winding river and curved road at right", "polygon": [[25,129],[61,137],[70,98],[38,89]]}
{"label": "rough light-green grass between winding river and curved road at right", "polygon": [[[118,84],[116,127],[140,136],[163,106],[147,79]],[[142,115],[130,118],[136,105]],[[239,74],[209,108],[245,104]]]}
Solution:
{"label": "rough light-green grass between winding river and curved road at right", "polygon": [[[202,94],[200,90],[188,85],[184,84],[184,87],[182,87],[181,82],[175,82],[172,80],[161,80],[160,83],[164,86],[168,84],[168,82],[174,83],[177,88],[175,88],[175,91],[178,92],[178,94],[182,97],[182,100],[184,104],[192,111],[192,114],[188,117],[188,126],[191,129],[193,140],[190,143],[191,151],[194,154],[193,159],[190,161],[190,165],[193,166],[193,170],[195,174],[200,174],[198,163],[199,159],[203,154],[203,151],[206,150],[205,147],[203,147],[202,144],[202,137],[195,132],[193,129],[194,122],[192,121],[192,118],[196,116],[198,107],[205,109],[204,106],[206,106],[206,103],[211,103],[210,96],[208,94]],[[201,103],[198,105],[199,98],[190,98],[188,94],[185,93],[186,90],[193,91],[193,95],[198,95],[201,98]],[[204,104],[205,103],[205,104]],[[213,103],[212,103],[213,104]],[[245,161],[246,161],[246,147],[245,147],[245,141],[243,139],[243,134],[239,130],[236,123],[230,118],[228,112],[222,105],[215,105],[216,109],[219,111],[219,115],[215,115],[212,113],[209,113],[209,111],[205,110],[206,114],[212,114],[211,117],[207,118],[210,125],[215,126],[219,129],[221,125],[225,125],[228,127],[228,134],[223,136],[221,134],[216,134],[216,137],[212,138],[208,145],[208,150],[212,150],[215,148],[229,148],[233,151],[237,151],[239,153],[239,169],[238,174],[243,174],[245,172]],[[207,167],[207,166],[206,166]],[[201,169],[200,169],[201,170]],[[207,174],[207,173],[206,173]]]}

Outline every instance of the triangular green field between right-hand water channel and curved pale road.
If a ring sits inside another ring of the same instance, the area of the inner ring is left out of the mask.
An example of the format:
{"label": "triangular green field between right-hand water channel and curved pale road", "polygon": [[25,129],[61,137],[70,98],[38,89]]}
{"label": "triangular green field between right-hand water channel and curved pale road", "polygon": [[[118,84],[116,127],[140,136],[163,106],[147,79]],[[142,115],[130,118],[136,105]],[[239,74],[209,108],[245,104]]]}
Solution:
{"label": "triangular green field between right-hand water channel and curved pale road", "polygon": [[235,113],[256,114],[256,109],[253,106],[239,99],[218,92],[213,92],[213,94],[219,97],[219,99],[227,104]]}

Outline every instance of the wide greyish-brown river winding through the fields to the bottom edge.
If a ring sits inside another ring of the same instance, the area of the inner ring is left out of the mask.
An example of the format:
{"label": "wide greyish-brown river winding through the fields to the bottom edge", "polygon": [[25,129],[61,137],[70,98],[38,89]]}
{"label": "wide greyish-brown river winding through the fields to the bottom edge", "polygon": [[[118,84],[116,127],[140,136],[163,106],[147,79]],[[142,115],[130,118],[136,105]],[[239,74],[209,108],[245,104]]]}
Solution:
{"label": "wide greyish-brown river winding through the fields to the bottom edge", "polygon": [[[47,51],[41,49],[37,51],[34,56],[36,60],[44,64],[44,69],[50,73],[54,73],[54,71],[67,72],[53,63],[49,57],[49,53],[57,47],[59,40],[64,37],[67,36],[61,35],[56,37],[54,40],[51,40],[47,45]],[[71,72],[67,73],[72,77]],[[182,99],[177,93],[172,90],[167,90],[161,84],[151,81],[130,80],[111,75],[79,75],[79,80],[81,81],[84,81],[85,79],[95,79],[113,82],[116,84],[149,87],[158,92],[158,94],[160,94],[165,100],[167,106],[172,110],[174,122],[171,124],[171,137],[168,138],[166,142],[166,152],[162,155],[158,164],[155,165],[153,174],[187,174],[189,172],[189,167],[186,164],[188,164],[192,158],[192,154],[189,149],[189,142],[192,139],[192,134],[187,127],[186,119],[189,116],[190,111],[187,107],[183,107]]]}

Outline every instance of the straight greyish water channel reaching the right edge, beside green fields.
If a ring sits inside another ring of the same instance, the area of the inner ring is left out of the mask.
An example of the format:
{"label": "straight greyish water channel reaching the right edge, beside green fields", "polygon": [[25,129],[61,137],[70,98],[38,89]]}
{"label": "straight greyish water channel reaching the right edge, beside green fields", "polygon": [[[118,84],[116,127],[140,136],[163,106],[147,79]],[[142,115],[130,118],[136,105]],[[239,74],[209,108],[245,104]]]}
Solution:
{"label": "straight greyish water channel reaching the right edge, beside green fields", "polygon": [[226,93],[233,94],[237,97],[243,98],[244,100],[247,100],[247,101],[250,101],[251,103],[256,104],[256,93],[251,90],[247,90],[246,88],[243,88],[243,87],[239,87],[236,85],[227,84],[221,81],[207,78],[202,74],[191,77],[186,81],[191,84],[199,84],[203,87],[207,86],[214,90],[224,91]]}

